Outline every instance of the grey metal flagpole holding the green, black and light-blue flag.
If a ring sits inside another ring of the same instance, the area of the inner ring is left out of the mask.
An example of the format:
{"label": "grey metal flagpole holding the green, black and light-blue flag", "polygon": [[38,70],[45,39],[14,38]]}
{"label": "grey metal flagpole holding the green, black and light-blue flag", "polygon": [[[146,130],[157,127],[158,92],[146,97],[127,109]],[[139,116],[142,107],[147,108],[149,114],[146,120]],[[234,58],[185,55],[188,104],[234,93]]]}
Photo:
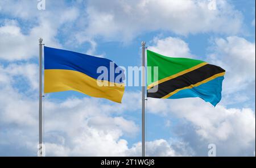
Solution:
{"label": "grey metal flagpole holding the green, black and light-blue flag", "polygon": [[146,156],[146,132],[145,132],[145,69],[146,69],[146,58],[145,58],[145,47],[146,43],[142,41],[142,157]]}

